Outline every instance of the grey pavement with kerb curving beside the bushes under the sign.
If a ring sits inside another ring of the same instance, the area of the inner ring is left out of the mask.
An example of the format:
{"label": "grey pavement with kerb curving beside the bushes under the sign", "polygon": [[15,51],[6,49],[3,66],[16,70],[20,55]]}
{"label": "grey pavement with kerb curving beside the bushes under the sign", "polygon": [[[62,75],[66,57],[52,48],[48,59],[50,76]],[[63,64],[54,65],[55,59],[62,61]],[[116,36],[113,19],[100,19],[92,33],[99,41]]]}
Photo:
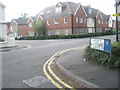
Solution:
{"label": "grey pavement with kerb curving beside the bushes under the sign", "polygon": [[87,88],[118,88],[118,71],[84,59],[85,47],[65,52],[56,61],[65,75]]}

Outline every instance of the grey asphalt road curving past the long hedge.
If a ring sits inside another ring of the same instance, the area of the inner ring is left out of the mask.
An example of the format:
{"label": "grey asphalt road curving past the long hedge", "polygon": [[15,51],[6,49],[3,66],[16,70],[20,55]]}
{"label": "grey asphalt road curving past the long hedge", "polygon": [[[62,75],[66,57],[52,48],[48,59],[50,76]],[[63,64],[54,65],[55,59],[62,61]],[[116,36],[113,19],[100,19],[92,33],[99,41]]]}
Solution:
{"label": "grey asphalt road curving past the long hedge", "polygon": [[[99,38],[112,39],[115,36]],[[56,52],[89,45],[90,38],[61,39],[61,40],[30,40],[16,41],[17,44],[30,45],[31,47],[2,52],[2,87],[3,88],[30,88],[23,80],[42,76],[44,63]],[[50,81],[35,88],[56,88]]]}

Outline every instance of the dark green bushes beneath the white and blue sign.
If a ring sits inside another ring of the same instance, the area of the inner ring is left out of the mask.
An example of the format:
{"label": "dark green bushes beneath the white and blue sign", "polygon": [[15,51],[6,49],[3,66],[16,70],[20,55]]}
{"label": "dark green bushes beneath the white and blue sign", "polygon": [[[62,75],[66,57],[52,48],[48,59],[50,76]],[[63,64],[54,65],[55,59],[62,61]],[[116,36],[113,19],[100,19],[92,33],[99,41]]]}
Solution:
{"label": "dark green bushes beneath the white and blue sign", "polygon": [[109,53],[91,49],[89,46],[85,50],[87,60],[95,61],[97,64],[102,64],[108,68],[120,67],[120,42],[113,43],[111,47],[111,57]]}

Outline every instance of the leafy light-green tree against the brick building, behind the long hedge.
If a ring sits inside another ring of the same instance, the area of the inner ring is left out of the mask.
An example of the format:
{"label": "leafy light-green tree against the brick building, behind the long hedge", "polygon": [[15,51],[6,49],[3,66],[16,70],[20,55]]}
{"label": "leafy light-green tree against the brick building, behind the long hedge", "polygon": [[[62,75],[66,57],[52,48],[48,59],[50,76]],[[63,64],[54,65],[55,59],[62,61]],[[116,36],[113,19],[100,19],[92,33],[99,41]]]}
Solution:
{"label": "leafy light-green tree against the brick building, behind the long hedge", "polygon": [[45,23],[43,20],[33,22],[35,36],[45,35]]}

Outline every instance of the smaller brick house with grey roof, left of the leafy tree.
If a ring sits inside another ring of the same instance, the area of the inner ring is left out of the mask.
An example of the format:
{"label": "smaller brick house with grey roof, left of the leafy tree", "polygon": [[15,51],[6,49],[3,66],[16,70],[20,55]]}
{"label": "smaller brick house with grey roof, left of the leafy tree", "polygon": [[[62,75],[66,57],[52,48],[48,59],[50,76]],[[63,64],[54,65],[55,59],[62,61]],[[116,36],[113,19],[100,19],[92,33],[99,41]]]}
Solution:
{"label": "smaller brick house with grey roof, left of the leafy tree", "polygon": [[13,19],[10,22],[8,33],[14,37],[34,36],[34,30],[29,19]]}

